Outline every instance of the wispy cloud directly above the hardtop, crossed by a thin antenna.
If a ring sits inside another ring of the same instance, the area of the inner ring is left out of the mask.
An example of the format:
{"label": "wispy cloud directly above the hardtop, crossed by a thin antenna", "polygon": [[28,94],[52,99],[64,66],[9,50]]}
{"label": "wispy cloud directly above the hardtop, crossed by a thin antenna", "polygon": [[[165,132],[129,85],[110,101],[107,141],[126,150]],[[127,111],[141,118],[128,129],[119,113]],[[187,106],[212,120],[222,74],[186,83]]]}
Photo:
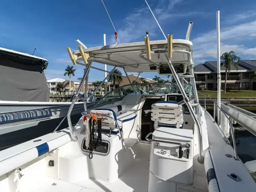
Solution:
{"label": "wispy cloud directly above the hardtop, crossed by a thin antenna", "polygon": [[[170,0],[169,2],[166,2],[166,0],[160,0],[156,7],[153,8],[151,5],[150,7],[161,26],[164,26],[166,21],[170,23],[170,18],[178,19],[190,17],[195,14],[204,14],[203,12],[173,12],[172,8],[181,2],[183,2],[183,0]],[[168,6],[166,6],[166,4],[168,4]],[[124,23],[125,26],[118,30],[118,38],[121,43],[131,42],[138,38],[142,38],[146,35],[146,31],[150,33],[150,36],[156,35],[156,32],[159,33],[158,25],[146,4],[141,8],[134,9],[133,12],[124,18]],[[164,36],[162,36],[162,38],[164,39]],[[143,38],[141,41],[143,41]],[[111,44],[115,43],[114,36],[111,37],[110,42]]]}

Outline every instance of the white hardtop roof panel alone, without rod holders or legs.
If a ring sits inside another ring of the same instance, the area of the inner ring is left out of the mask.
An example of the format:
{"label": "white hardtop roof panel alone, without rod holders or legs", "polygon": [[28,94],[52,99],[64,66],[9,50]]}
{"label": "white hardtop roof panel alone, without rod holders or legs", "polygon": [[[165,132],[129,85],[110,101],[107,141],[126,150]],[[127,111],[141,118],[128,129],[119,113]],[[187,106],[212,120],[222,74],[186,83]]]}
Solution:
{"label": "white hardtop roof panel alone, without rod holders or legs", "polygon": [[[168,68],[164,53],[168,52],[167,40],[150,41],[151,58],[147,58],[145,42],[114,44],[109,46],[100,46],[84,49],[87,60],[93,60],[98,63],[108,64],[111,66],[125,68],[126,72],[150,72],[158,71],[159,74],[169,74],[170,70],[161,70]],[[76,61],[82,60],[79,50],[74,51]],[[192,42],[189,40],[174,39],[172,40],[172,58],[170,61],[174,67],[184,67],[191,62]]]}

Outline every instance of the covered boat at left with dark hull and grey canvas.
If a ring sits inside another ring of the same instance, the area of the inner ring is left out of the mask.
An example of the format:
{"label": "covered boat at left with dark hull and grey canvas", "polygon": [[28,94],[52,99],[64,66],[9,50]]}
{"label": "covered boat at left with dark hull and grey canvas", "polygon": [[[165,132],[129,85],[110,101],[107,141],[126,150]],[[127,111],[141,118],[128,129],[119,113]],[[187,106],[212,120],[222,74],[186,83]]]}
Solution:
{"label": "covered boat at left with dark hull and grey canvas", "polygon": [[[44,58],[0,48],[0,149],[48,134],[66,116],[71,102],[49,102],[47,66]],[[76,103],[72,124],[83,111]],[[60,129],[66,126],[67,120]]]}

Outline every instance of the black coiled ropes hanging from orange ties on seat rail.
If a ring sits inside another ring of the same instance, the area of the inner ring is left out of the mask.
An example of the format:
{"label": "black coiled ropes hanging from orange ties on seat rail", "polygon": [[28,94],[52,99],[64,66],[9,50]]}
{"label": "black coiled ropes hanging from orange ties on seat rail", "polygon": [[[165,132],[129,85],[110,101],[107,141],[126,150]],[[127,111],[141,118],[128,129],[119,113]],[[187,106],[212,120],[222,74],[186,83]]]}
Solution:
{"label": "black coiled ropes hanging from orange ties on seat rail", "polygon": [[[98,130],[98,138],[97,140],[94,139],[94,125],[97,125]],[[102,144],[102,136],[101,136],[101,119],[93,120],[92,118],[89,119],[89,127],[90,127],[90,142],[89,142],[89,158],[92,159],[92,151],[97,148],[97,146],[101,146]]]}

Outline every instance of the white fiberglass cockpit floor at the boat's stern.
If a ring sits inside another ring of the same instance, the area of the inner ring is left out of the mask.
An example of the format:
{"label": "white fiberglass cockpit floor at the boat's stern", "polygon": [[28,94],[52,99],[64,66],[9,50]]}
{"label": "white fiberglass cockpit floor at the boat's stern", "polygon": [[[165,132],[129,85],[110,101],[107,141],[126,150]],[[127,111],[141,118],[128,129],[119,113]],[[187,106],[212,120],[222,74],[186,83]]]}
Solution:
{"label": "white fiberglass cockpit floor at the boat's stern", "polygon": [[147,192],[150,144],[138,142],[134,150],[138,156],[116,182],[88,179],[70,184],[45,178],[32,184],[27,192]]}

